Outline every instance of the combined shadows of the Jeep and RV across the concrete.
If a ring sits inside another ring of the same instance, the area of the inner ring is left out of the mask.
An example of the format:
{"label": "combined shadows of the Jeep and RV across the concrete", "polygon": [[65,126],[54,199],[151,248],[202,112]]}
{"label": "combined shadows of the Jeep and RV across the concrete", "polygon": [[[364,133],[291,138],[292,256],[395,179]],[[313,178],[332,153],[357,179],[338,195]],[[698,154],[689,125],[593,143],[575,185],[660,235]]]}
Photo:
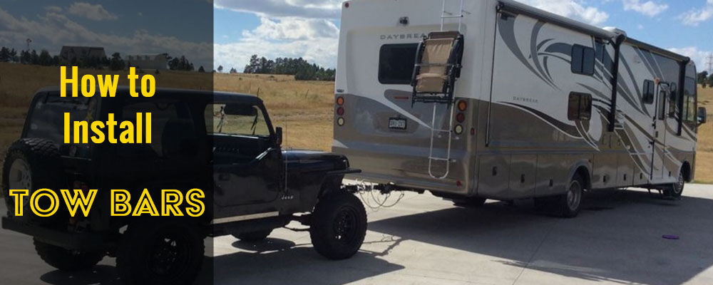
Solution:
{"label": "combined shadows of the Jeep and RV across the concrete", "polygon": [[[434,198],[435,199],[435,198]],[[480,208],[448,208],[382,219],[369,230],[384,235],[383,252],[360,251],[352,259],[330,261],[309,244],[267,239],[235,242],[237,252],[206,257],[198,284],[345,284],[404,269],[381,257],[405,240],[482,254],[493,261],[532,271],[588,281],[683,284],[713,266],[713,200],[658,199],[641,191],[590,193],[575,219],[550,217],[518,202]],[[663,239],[672,234],[679,240]],[[348,270],[344,270],[348,269]],[[279,274],[275,274],[279,271]],[[51,271],[48,284],[120,284],[113,266],[67,274]]]}

